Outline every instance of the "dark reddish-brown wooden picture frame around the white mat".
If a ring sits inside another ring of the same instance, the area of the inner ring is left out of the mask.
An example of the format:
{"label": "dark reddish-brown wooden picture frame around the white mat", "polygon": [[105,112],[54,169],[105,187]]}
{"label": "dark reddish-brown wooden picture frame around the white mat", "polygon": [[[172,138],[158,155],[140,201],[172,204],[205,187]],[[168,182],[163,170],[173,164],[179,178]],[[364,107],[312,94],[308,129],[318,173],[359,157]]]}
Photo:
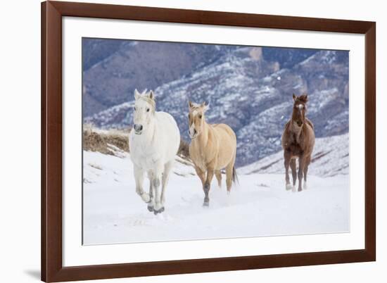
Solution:
{"label": "dark reddish-brown wooden picture frame around the white mat", "polygon": [[[62,263],[62,17],[365,34],[365,249],[63,267]],[[46,1],[42,3],[42,280],[355,263],[376,260],[376,23],[279,15]]]}

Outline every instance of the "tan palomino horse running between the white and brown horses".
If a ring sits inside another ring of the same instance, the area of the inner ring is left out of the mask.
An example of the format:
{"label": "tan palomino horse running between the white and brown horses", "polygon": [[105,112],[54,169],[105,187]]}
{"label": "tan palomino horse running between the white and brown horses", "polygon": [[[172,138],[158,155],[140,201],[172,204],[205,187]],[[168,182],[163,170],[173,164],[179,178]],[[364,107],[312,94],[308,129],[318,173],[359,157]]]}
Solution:
{"label": "tan palomino horse running between the white and brown horses", "polygon": [[235,182],[234,168],[236,158],[236,135],[225,124],[210,125],[205,122],[205,102],[196,104],[189,101],[189,155],[194,162],[196,173],[201,179],[205,194],[203,206],[209,206],[208,193],[212,177],[217,177],[219,186],[222,184],[220,170],[226,169],[227,192],[231,190],[232,181]]}

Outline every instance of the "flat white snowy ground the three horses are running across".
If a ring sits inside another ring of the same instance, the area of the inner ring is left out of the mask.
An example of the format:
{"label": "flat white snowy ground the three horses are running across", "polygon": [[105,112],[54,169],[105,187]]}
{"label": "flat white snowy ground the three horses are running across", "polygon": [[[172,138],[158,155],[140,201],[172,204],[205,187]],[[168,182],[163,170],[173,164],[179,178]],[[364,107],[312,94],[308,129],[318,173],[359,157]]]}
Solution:
{"label": "flat white snowy ground the three horses are running across", "polygon": [[210,207],[203,208],[194,168],[177,158],[165,212],[153,215],[135,192],[128,153],[84,151],[84,244],[349,231],[349,175],[309,175],[308,189],[293,193],[285,190],[283,173],[247,169],[241,168],[230,195],[224,175],[222,188],[214,178]]}

